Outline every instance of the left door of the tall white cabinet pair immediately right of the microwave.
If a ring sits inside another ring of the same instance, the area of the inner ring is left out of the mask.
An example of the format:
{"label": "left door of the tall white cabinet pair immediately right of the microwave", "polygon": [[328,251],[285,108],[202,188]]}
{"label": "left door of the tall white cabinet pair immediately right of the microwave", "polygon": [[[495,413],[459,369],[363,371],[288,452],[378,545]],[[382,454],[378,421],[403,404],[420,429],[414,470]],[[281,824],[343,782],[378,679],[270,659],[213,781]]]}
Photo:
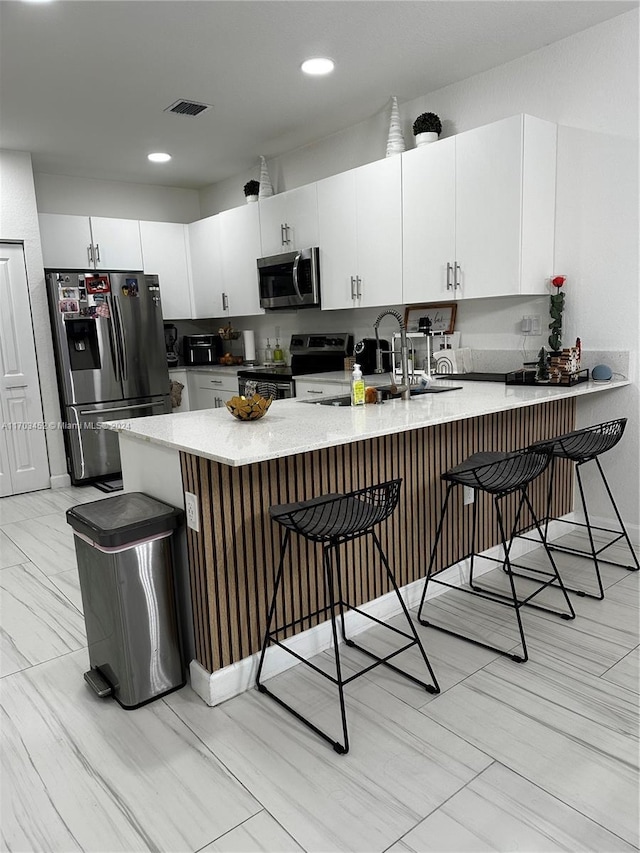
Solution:
{"label": "left door of the tall white cabinet pair immediately right of the microwave", "polygon": [[323,308],[353,308],[358,274],[356,169],[318,181]]}

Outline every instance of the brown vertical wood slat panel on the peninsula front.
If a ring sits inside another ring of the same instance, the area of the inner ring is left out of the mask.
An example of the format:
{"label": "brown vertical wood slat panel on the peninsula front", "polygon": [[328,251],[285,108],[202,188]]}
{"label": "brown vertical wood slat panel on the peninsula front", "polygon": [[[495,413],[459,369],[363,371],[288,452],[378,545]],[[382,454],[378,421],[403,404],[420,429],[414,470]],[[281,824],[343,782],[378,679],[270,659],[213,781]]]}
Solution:
{"label": "brown vertical wood slat panel on the peninsula front", "polygon": [[[402,477],[400,506],[378,535],[399,586],[425,576],[445,487],[440,475],[480,450],[516,450],[574,428],[575,400],[499,412],[450,424],[325,448],[311,453],[230,468],[180,454],[184,488],[196,494],[201,532],[187,530],[196,656],[210,672],[260,650],[268,604],[280,556],[281,529],[269,507],[347,492]],[[536,513],[546,506],[548,473],[531,487]],[[477,493],[478,550],[498,543],[490,496]],[[505,522],[513,521],[516,501],[505,502]],[[573,508],[570,463],[556,467],[552,515]],[[472,506],[454,489],[436,568],[457,562],[471,546]],[[531,524],[528,513],[522,523]],[[347,600],[360,605],[389,591],[370,537],[343,547],[341,561]],[[322,549],[292,536],[285,564],[279,624],[302,620],[283,636],[318,624],[309,613],[325,604]]]}

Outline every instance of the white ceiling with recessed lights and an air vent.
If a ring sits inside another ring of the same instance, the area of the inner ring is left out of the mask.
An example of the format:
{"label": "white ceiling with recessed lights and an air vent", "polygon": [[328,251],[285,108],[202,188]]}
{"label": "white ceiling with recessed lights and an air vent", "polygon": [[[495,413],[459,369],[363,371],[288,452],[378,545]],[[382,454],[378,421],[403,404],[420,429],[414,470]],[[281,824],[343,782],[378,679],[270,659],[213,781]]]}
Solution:
{"label": "white ceiling with recessed lights and an air vent", "polygon": [[[0,147],[37,172],[201,188],[637,5],[2,0]],[[316,55],[332,75],[300,73]],[[214,108],[163,112],[180,98]]]}

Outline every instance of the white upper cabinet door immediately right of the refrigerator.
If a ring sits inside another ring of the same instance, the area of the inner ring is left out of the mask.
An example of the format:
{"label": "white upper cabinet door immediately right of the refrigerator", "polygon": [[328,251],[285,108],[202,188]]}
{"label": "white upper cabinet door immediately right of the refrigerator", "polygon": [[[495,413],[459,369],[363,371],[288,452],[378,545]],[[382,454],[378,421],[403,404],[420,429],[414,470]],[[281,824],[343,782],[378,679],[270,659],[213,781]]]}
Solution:
{"label": "white upper cabinet door immediately right of the refrigerator", "polygon": [[178,222],[140,222],[140,239],[144,271],[160,278],[163,318],[191,319],[187,226]]}

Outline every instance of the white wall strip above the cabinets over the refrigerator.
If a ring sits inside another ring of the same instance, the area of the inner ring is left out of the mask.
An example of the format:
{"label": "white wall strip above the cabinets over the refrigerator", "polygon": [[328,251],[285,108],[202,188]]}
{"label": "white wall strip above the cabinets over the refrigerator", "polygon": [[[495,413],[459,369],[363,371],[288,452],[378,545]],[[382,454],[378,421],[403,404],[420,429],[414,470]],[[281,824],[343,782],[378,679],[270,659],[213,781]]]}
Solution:
{"label": "white wall strip above the cabinets over the refrigerator", "polygon": [[197,190],[35,173],[38,213],[113,216],[151,222],[200,219]]}

